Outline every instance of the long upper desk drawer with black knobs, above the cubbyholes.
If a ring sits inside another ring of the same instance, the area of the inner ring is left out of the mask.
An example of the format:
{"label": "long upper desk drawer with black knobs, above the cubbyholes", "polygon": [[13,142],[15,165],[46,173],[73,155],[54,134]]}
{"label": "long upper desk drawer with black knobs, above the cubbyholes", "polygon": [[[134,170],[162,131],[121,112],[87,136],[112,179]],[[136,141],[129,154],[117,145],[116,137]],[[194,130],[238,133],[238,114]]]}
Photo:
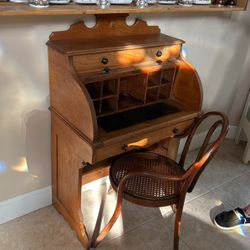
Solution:
{"label": "long upper desk drawer with black knobs, above the cubbyholes", "polygon": [[80,73],[99,72],[105,68],[115,69],[157,60],[167,62],[179,58],[180,48],[180,45],[172,45],[79,55],[73,58],[73,64]]}

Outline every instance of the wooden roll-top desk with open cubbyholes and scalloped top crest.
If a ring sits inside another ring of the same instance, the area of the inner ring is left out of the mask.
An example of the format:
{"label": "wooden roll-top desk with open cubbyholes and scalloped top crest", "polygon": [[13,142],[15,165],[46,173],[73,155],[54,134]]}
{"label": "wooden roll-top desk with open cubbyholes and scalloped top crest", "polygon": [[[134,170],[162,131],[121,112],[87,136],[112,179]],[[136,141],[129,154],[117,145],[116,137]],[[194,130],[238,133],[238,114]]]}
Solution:
{"label": "wooden roll-top desk with open cubbyholes and scalloped top crest", "polygon": [[[199,77],[181,56],[184,41],[126,15],[97,16],[53,32],[49,48],[53,204],[85,248],[81,186],[108,173],[114,157],[178,140],[199,115]],[[85,204],[84,204],[85,205]]]}

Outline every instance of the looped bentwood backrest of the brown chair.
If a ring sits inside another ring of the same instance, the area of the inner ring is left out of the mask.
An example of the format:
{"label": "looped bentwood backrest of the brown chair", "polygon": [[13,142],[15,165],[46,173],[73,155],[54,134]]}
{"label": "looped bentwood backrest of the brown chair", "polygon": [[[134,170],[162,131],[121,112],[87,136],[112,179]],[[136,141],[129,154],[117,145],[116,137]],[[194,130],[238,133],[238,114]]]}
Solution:
{"label": "looped bentwood backrest of the brown chair", "polygon": [[[213,122],[212,126],[209,128],[206,137],[201,145],[201,148],[198,152],[195,162],[190,165],[190,167],[186,170],[185,173],[186,181],[183,188],[187,189],[188,192],[192,192],[197,180],[200,177],[200,174],[205,169],[205,167],[212,159],[212,157],[215,155],[220,144],[223,142],[229,128],[228,118],[223,113],[208,112],[200,116],[188,131],[187,140],[180,157],[180,162],[179,162],[180,166],[184,167],[185,159],[190,144],[197,129],[205,120],[211,119],[212,117],[216,117],[217,119],[215,122]],[[220,127],[219,133],[216,130],[218,127]],[[213,142],[211,143],[210,140],[212,137],[213,137]]]}

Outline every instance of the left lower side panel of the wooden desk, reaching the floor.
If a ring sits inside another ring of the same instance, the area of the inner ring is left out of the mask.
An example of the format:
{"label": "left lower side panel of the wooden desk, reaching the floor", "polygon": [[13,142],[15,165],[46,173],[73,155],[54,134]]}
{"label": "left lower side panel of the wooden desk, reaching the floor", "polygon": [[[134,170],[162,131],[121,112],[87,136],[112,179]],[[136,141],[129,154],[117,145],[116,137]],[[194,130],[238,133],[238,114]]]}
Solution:
{"label": "left lower side panel of the wooden desk, reaching the floor", "polygon": [[82,159],[74,145],[52,130],[53,205],[76,232],[85,249],[89,249],[81,211]]}

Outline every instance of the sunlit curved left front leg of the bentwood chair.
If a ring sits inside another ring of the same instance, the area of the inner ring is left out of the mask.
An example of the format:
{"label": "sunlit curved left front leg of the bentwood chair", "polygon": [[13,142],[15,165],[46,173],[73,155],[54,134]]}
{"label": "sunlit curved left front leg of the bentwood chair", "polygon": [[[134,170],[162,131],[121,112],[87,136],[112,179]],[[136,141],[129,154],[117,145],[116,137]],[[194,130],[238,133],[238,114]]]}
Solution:
{"label": "sunlit curved left front leg of the bentwood chair", "polygon": [[117,221],[122,209],[122,192],[118,192],[117,203],[115,211],[109,220],[108,224],[104,227],[102,232],[98,235],[96,239],[92,239],[91,247],[95,248],[98,244],[106,237],[108,232],[111,230],[115,222]]}

